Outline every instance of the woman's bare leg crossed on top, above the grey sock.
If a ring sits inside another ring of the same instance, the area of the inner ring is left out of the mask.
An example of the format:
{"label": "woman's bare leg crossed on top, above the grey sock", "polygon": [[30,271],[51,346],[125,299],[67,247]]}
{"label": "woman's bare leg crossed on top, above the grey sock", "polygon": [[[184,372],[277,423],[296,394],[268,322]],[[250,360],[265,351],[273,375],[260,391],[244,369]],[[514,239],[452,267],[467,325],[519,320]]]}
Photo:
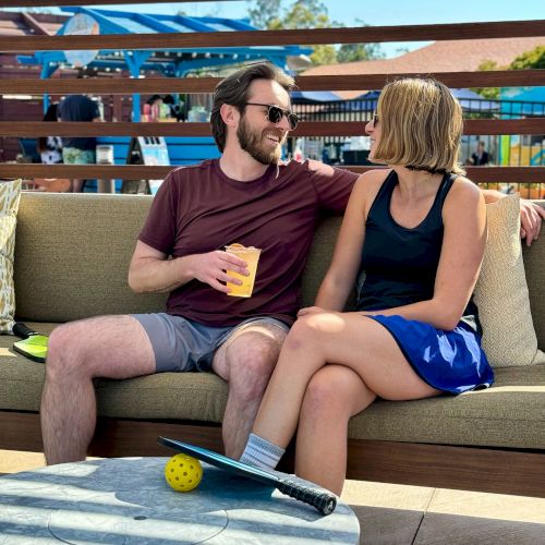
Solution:
{"label": "woman's bare leg crossed on top, above the grey sock", "polygon": [[326,363],[350,367],[385,399],[439,393],[416,375],[393,337],[377,322],[352,313],[313,314],[298,319],[288,335],[253,432],[286,448],[298,426],[308,383]]}

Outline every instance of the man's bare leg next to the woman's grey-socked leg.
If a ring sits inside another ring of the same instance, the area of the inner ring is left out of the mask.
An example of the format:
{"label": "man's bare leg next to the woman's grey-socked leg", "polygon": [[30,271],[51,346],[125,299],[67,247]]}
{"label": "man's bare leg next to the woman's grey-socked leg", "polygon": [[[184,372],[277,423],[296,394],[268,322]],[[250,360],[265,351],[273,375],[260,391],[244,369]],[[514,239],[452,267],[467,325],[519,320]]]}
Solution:
{"label": "man's bare leg next to the woman's grey-socked leg", "polygon": [[255,324],[233,334],[214,356],[214,372],[229,383],[222,436],[226,455],[239,459],[275,368],[286,332]]}

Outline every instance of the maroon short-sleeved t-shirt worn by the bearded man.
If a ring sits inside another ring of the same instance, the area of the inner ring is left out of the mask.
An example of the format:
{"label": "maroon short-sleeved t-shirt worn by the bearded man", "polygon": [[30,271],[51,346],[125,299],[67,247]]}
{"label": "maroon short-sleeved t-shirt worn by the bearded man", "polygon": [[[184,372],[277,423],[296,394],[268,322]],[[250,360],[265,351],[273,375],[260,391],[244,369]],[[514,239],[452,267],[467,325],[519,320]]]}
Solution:
{"label": "maroon short-sleeved t-shirt worn by the bearded man", "polygon": [[191,280],[171,292],[167,312],[217,327],[253,316],[291,324],[319,211],[343,213],[356,178],[317,161],[270,166],[251,182],[228,178],[218,159],[170,172],[154,198],[142,242],[172,257],[235,242],[262,253],[251,298]]}

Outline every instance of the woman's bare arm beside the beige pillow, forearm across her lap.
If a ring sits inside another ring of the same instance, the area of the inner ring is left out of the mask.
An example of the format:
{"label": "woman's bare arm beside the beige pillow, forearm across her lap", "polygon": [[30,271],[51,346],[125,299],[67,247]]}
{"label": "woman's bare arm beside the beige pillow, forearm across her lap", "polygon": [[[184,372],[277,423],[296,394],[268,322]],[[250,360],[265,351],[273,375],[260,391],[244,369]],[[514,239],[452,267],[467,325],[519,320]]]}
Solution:
{"label": "woman's bare arm beside the beige pillow, forearm across her lap", "polygon": [[363,314],[396,314],[444,330],[458,325],[475,287],[486,243],[486,208],[476,185],[458,178],[445,201],[443,219],[445,233],[434,296],[428,301]]}

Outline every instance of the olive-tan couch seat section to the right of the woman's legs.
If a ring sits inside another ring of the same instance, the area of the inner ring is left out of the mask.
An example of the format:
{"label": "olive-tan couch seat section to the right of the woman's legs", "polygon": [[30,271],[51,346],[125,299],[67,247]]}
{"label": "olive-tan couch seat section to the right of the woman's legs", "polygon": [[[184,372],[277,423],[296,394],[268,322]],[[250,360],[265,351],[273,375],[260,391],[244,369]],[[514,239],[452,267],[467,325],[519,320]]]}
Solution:
{"label": "olive-tan couch seat section to the right of the woman's legs", "polygon": [[494,370],[492,388],[419,401],[375,401],[349,424],[359,439],[545,448],[545,365]]}

